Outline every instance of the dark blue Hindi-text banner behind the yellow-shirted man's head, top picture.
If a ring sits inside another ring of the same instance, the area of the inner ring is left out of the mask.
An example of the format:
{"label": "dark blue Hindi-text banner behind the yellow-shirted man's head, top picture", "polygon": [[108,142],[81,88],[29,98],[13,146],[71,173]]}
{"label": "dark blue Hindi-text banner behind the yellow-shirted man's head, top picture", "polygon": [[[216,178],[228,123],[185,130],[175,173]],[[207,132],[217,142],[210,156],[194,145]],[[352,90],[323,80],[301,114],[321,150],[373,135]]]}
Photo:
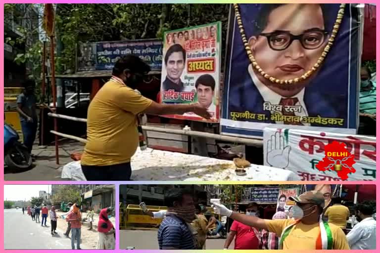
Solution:
{"label": "dark blue Hindi-text banner behind the yellow-shirted man's head, top picture", "polygon": [[139,56],[152,71],[162,68],[162,42],[154,39],[79,43],[77,71],[112,70],[115,62],[127,54]]}

